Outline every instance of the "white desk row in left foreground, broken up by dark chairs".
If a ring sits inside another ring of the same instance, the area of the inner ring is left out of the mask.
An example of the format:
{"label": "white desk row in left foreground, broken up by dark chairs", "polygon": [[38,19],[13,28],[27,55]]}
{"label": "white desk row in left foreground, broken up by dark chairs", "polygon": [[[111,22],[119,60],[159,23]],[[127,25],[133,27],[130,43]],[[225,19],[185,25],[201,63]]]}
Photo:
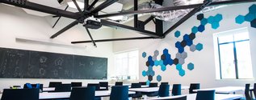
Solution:
{"label": "white desk row in left foreground, broken up by dark chairs", "polygon": [[[56,99],[56,98],[69,98],[71,92],[43,92],[40,93],[39,99]],[[107,97],[110,96],[111,90],[97,90],[95,91],[96,97]],[[128,94],[135,94],[135,92],[129,91]],[[2,97],[2,94],[0,94],[0,99]]]}

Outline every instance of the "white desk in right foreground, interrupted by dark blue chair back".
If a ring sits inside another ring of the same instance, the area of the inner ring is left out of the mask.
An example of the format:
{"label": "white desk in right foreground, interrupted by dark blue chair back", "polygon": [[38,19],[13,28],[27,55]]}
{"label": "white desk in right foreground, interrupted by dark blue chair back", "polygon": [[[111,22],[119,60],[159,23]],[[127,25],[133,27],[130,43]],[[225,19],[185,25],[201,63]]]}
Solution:
{"label": "white desk in right foreground, interrupted by dark blue chair back", "polygon": [[[171,96],[171,97],[165,97],[165,98],[149,98],[149,100],[162,100],[162,99],[168,99],[168,98],[179,98],[187,96],[187,100],[195,100],[196,94],[184,94],[179,96]],[[215,100],[233,100],[233,99],[239,99],[243,98],[241,94],[215,94]]]}

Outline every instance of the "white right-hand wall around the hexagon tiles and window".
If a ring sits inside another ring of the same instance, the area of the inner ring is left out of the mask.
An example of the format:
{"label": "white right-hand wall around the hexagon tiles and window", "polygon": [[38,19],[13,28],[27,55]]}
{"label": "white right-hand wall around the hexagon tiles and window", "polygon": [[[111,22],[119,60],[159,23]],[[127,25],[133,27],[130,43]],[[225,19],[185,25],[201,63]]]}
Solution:
{"label": "white right-hand wall around the hexagon tiles and window", "polygon": [[[167,3],[167,2],[165,2]],[[255,2],[254,2],[255,3]],[[181,77],[178,75],[178,71],[176,70],[176,66],[167,66],[166,71],[162,71],[160,66],[153,66],[153,70],[155,70],[156,74],[153,77],[153,82],[157,82],[156,76],[158,74],[162,75],[162,82],[170,82],[173,83],[182,83],[183,85],[188,86],[191,82],[200,82],[202,87],[213,87],[213,86],[245,86],[247,82],[254,83],[254,79],[248,80],[216,80],[216,65],[215,65],[215,57],[214,57],[214,48],[213,48],[213,34],[219,33],[226,30],[234,30],[242,27],[248,27],[250,32],[250,47],[251,47],[251,57],[253,64],[253,72],[254,78],[256,78],[256,34],[255,28],[250,27],[249,22],[244,22],[242,25],[235,23],[235,18],[237,15],[242,14],[246,15],[249,10],[249,6],[252,3],[239,4],[228,6],[225,8],[221,8],[220,10],[213,10],[211,12],[205,13],[205,18],[209,16],[215,16],[216,14],[222,14],[223,20],[220,22],[220,27],[217,30],[213,30],[211,25],[208,24],[206,26],[206,30],[204,33],[196,34],[196,38],[194,40],[194,44],[203,43],[204,50],[191,52],[188,47],[185,48],[185,51],[188,54],[188,58],[185,60],[185,64],[183,64],[183,69],[186,70],[186,75]],[[167,5],[166,5],[167,6]],[[239,9],[237,9],[239,8]],[[164,29],[170,28],[170,25],[173,23],[165,22]],[[153,25],[151,25],[153,26]],[[196,16],[189,18],[186,22],[184,22],[177,29],[172,31],[170,34],[166,36],[165,39],[162,40],[139,40],[139,41],[126,41],[126,42],[114,42],[114,52],[123,51],[123,50],[132,50],[138,49],[140,50],[140,80],[146,81],[147,77],[143,77],[141,72],[143,70],[147,70],[147,66],[145,66],[145,62],[147,62],[147,58],[142,58],[141,54],[143,52],[147,53],[147,57],[149,55],[153,55],[155,50],[159,50],[159,54],[157,59],[159,60],[162,54],[162,50],[165,48],[169,50],[171,54],[171,58],[175,58],[175,54],[178,53],[178,50],[174,46],[175,42],[181,42],[184,34],[190,34],[191,28],[193,26],[199,26],[199,21],[196,19]],[[174,37],[174,32],[176,30],[180,30],[182,32],[180,38]],[[115,37],[123,37],[127,36],[130,33],[129,31],[115,30]],[[187,64],[189,62],[193,62],[195,64],[194,70],[187,70]]]}

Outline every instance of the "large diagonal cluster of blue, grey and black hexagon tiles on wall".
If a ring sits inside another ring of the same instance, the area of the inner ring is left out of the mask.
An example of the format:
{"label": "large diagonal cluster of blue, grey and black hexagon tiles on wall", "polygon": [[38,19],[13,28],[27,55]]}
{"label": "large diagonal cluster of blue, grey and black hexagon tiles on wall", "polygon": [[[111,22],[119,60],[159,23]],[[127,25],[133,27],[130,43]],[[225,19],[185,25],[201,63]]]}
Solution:
{"label": "large diagonal cluster of blue, grey and black hexagon tiles on wall", "polygon": [[[197,19],[200,22],[199,26],[193,26],[191,28],[191,33],[190,34],[184,34],[181,37],[181,32],[179,30],[174,32],[174,37],[176,38],[183,38],[182,41],[177,41],[175,42],[175,47],[177,48],[177,53],[176,54],[169,54],[168,49],[162,50],[162,54],[159,54],[158,50],[155,50],[153,52],[153,55],[148,56],[148,61],[145,62],[145,65],[148,66],[148,70],[142,71],[142,75],[144,77],[148,77],[148,82],[151,82],[153,80],[155,71],[153,70],[153,67],[160,66],[160,69],[162,71],[166,71],[167,66],[175,66],[175,70],[178,70],[179,76],[183,77],[186,75],[186,71],[183,70],[183,65],[186,62],[187,59],[187,51],[185,51],[185,47],[189,47],[189,50],[194,52],[195,50],[201,51],[204,49],[202,43],[194,44],[194,40],[196,38],[197,33],[203,33],[206,29],[205,26],[210,24],[212,26],[212,29],[217,29],[220,27],[220,21],[223,20],[222,14],[216,14],[215,16],[209,16],[208,18],[204,18],[204,14],[198,14]],[[242,22],[242,18],[238,18],[238,22]],[[172,58],[172,55],[175,57]],[[143,52],[142,57],[146,58],[146,53]],[[157,59],[157,57],[160,56],[161,59]],[[159,67],[158,67],[159,68]],[[194,64],[189,63],[187,65],[188,70],[193,70],[194,69]],[[157,81],[161,82],[162,81],[162,76],[157,75]]]}

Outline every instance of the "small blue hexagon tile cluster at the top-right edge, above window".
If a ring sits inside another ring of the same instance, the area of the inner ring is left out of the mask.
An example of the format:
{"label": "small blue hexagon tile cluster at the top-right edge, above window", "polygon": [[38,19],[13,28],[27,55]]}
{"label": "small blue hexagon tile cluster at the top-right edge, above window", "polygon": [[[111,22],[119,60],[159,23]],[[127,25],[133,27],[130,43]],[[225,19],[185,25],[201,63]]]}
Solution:
{"label": "small blue hexagon tile cluster at the top-right edge, above window", "polygon": [[238,15],[236,18],[236,23],[241,24],[243,22],[250,22],[250,26],[256,28],[256,5],[249,7],[249,13],[245,16]]}

